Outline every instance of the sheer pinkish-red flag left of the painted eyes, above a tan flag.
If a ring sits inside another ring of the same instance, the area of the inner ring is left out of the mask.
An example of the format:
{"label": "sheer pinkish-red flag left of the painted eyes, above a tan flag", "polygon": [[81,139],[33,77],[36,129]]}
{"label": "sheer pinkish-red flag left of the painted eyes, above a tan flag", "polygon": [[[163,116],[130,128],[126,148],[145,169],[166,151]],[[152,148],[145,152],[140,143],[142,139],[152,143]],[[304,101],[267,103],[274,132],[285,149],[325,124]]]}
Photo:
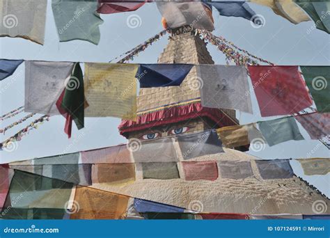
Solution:
{"label": "sheer pinkish-red flag left of the painted eyes, above a tan flag", "polygon": [[116,145],[108,148],[81,152],[82,164],[132,163],[127,145]]}

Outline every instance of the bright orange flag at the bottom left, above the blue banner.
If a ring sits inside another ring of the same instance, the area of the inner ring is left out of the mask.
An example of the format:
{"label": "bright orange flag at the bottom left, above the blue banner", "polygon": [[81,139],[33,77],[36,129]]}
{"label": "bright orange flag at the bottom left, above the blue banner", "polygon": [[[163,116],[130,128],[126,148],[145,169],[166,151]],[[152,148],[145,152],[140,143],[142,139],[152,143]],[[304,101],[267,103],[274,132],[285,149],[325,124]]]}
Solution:
{"label": "bright orange flag at the bottom left, above the blue banner", "polygon": [[74,200],[79,204],[79,210],[72,213],[70,219],[123,219],[127,214],[129,197],[77,187]]}

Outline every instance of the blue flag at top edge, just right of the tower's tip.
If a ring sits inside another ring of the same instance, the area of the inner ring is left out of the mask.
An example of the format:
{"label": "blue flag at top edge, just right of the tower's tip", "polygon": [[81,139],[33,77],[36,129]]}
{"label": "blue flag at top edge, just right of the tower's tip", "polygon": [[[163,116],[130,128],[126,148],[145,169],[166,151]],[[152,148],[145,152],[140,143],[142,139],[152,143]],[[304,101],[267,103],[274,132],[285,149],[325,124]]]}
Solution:
{"label": "blue flag at top edge, just right of the tower's tip", "polygon": [[256,13],[245,1],[214,1],[205,2],[209,6],[216,8],[220,15],[226,17],[243,17],[250,20]]}

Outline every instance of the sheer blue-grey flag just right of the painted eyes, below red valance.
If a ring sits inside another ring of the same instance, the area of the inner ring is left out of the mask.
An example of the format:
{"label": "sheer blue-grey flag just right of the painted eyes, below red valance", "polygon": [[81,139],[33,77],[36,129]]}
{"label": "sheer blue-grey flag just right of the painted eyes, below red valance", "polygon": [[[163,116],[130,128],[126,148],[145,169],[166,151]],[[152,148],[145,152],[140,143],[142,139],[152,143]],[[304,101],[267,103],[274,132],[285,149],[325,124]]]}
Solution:
{"label": "sheer blue-grey flag just right of the painted eyes, below red valance", "polygon": [[178,143],[183,159],[223,152],[222,143],[215,130],[179,135]]}

